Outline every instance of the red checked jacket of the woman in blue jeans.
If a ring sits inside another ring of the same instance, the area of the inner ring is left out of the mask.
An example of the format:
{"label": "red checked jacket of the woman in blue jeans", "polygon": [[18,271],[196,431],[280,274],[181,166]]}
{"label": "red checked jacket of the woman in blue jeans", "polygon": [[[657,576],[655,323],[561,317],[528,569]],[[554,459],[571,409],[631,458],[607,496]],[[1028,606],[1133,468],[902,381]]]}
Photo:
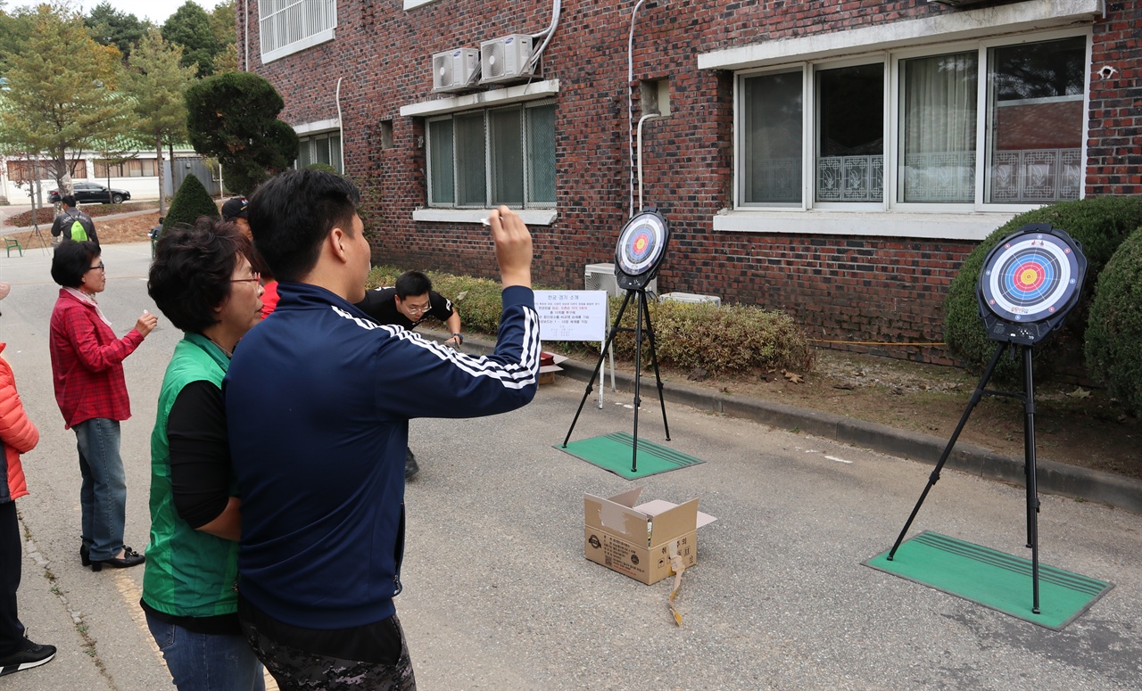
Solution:
{"label": "red checked jacket of the woman in blue jeans", "polygon": [[80,300],[66,289],[51,311],[51,375],[56,403],[64,416],[64,428],[93,418],[126,420],[131,417],[123,377],[123,359],[143,343],[143,335],[131,329],[115,338],[96,312],[95,305]]}

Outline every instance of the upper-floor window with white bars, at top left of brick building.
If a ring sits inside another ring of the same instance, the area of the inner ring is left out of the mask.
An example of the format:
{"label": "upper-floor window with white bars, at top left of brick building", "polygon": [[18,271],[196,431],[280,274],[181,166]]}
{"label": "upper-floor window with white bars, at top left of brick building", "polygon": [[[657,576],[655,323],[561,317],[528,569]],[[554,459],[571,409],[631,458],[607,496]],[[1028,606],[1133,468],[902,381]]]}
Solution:
{"label": "upper-floor window with white bars, at top left of brick building", "polygon": [[262,62],[333,40],[337,0],[258,0]]}

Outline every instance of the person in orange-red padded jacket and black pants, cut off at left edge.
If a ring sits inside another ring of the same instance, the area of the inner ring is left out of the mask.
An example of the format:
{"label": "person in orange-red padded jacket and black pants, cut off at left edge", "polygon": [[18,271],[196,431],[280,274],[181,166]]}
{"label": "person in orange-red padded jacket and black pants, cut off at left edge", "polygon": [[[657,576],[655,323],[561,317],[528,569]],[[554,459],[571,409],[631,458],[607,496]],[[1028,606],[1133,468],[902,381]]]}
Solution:
{"label": "person in orange-red padded jacket and black pants, cut off at left edge", "polygon": [[[0,283],[0,299],[8,290],[8,283]],[[3,347],[0,343],[0,352]],[[0,676],[39,667],[56,654],[55,646],[37,645],[24,637],[24,625],[16,616],[24,560],[16,499],[27,493],[19,455],[31,451],[38,441],[40,432],[24,413],[11,368],[0,357]]]}

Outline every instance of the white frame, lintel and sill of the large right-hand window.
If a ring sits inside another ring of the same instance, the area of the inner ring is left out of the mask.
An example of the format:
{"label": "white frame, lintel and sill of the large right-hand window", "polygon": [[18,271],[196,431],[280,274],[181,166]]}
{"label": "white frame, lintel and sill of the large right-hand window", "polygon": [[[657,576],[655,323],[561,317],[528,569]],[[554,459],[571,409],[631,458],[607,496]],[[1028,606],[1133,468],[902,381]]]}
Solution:
{"label": "white frame, lintel and sill of the large right-hand window", "polygon": [[[1085,37],[1087,63],[1092,51],[1091,22],[1101,14],[1099,0],[1027,0],[1012,5],[981,8],[909,19],[892,24],[866,26],[827,34],[766,41],[749,46],[719,49],[698,56],[700,70],[735,72],[733,97],[733,184],[729,208],[713,217],[715,231],[836,234],[981,240],[1015,214],[1037,208],[1039,203],[983,203],[987,159],[983,128],[988,122],[988,49],[1062,38]],[[1053,29],[1054,27],[1054,29]],[[896,202],[896,158],[899,155],[899,61],[908,57],[978,50],[975,203],[933,204]],[[812,103],[813,71],[845,64],[884,62],[888,85],[885,88],[885,174],[883,208],[866,202],[814,202],[815,171],[813,166],[817,138],[815,107]],[[766,72],[802,70],[805,98],[803,116],[802,204],[794,207],[759,207],[739,203],[741,196],[741,77]],[[1089,79],[1085,75],[1084,123],[1080,166],[1086,168],[1086,140],[1089,113]],[[1080,196],[1081,196],[1080,192]],[[834,204],[841,204],[834,207]],[[966,207],[966,208],[965,208]]]}

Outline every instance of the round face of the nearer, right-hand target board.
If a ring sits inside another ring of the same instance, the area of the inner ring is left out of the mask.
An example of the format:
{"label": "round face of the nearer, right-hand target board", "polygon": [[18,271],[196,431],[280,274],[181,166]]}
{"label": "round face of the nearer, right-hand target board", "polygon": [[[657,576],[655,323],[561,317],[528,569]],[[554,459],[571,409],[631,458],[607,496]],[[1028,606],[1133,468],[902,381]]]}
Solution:
{"label": "round face of the nearer, right-hand target board", "polygon": [[983,262],[981,298],[1012,322],[1061,318],[1078,299],[1086,260],[1070,235],[1046,226],[1005,238]]}

